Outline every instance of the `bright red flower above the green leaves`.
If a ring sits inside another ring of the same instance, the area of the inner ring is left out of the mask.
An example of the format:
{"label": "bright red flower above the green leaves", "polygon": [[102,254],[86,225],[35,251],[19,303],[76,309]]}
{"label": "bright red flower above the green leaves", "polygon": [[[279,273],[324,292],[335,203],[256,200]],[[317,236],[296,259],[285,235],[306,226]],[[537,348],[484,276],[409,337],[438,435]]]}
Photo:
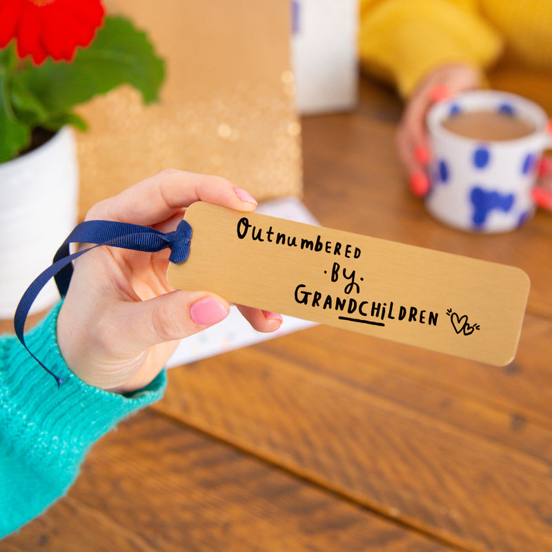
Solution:
{"label": "bright red flower above the green leaves", "polygon": [[17,54],[39,65],[46,57],[70,61],[101,26],[101,0],[0,0],[0,48],[17,40]]}

